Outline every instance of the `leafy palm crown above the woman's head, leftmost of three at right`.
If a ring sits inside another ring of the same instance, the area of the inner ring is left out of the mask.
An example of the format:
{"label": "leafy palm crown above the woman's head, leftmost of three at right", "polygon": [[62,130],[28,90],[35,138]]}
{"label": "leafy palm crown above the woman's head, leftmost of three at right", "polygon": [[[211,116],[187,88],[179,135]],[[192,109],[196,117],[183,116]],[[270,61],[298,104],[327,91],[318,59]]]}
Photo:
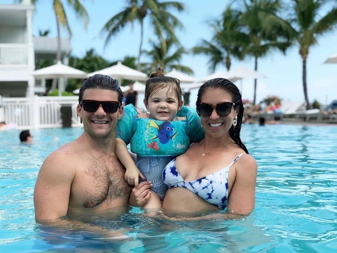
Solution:
{"label": "leafy palm crown above the woman's head, leftmost of three at right", "polygon": [[248,36],[243,33],[239,22],[240,12],[228,6],[219,20],[210,22],[214,30],[212,42],[205,39],[194,48],[193,54],[204,54],[210,56],[209,70],[215,71],[218,64],[224,64],[227,71],[231,68],[231,58],[243,59],[243,45]]}

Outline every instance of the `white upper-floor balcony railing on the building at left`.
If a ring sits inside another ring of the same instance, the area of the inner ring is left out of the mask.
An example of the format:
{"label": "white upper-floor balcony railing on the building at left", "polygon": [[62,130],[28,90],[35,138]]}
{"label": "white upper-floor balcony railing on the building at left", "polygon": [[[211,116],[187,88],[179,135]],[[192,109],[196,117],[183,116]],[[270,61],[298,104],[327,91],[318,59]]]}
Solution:
{"label": "white upper-floor balcony railing on the building at left", "polygon": [[0,67],[28,64],[26,44],[0,44]]}

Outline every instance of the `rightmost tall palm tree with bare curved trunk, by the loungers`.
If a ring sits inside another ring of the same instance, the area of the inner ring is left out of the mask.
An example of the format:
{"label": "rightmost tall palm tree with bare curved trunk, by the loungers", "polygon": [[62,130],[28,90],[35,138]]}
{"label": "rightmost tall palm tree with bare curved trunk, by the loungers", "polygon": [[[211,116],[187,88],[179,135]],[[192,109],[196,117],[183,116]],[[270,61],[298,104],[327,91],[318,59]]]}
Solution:
{"label": "rightmost tall palm tree with bare curved trunk, by the loungers", "polygon": [[331,31],[337,24],[337,8],[329,8],[329,11],[322,17],[321,9],[324,0],[293,0],[295,6],[295,17],[293,20],[293,31],[295,40],[299,45],[299,54],[302,58],[302,81],[304,98],[307,109],[310,109],[307,90],[307,58],[310,47],[317,43],[317,38],[328,31]]}

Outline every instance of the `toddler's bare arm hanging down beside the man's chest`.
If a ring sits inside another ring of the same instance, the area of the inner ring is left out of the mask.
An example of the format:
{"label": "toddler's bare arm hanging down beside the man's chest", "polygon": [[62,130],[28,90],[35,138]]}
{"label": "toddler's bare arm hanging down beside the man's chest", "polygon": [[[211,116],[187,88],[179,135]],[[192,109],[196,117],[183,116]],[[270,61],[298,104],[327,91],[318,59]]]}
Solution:
{"label": "toddler's bare arm hanging down beside the man's chest", "polygon": [[127,181],[129,185],[138,187],[138,177],[142,179],[145,179],[145,177],[134,164],[129,151],[127,150],[125,142],[120,138],[116,138],[115,151],[118,159],[126,169],[124,175],[125,181]]}

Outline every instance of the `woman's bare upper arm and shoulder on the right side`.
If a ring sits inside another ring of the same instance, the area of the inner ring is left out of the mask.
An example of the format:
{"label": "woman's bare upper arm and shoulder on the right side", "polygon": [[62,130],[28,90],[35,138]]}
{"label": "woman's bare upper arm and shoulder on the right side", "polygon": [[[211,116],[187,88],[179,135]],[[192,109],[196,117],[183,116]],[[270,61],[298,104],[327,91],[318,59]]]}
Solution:
{"label": "woman's bare upper arm and shoulder on the right side", "polygon": [[257,164],[250,155],[243,155],[235,164],[235,181],[228,197],[227,211],[249,214],[255,206]]}

